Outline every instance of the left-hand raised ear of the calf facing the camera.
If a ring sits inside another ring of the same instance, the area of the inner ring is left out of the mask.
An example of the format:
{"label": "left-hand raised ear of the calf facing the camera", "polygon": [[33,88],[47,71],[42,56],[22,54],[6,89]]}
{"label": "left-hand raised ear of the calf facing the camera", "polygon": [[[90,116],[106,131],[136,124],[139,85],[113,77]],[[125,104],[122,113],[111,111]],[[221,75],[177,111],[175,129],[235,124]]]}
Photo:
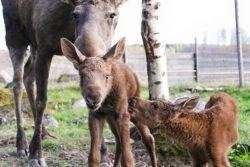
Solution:
{"label": "left-hand raised ear of the calf facing the camera", "polygon": [[77,47],[66,38],[61,38],[61,48],[63,55],[71,61],[75,68],[78,69],[79,65],[86,58]]}

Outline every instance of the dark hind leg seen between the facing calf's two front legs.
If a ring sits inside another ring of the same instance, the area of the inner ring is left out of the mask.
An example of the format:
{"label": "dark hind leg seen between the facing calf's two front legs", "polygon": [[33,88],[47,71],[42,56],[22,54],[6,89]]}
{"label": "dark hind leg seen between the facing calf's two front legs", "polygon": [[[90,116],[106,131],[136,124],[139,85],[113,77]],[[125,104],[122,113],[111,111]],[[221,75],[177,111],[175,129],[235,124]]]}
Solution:
{"label": "dark hind leg seen between the facing calf's two front legs", "polygon": [[118,129],[118,125],[116,124],[114,119],[108,118],[108,123],[109,123],[111,131],[113,132],[113,134],[115,136],[115,141],[116,141],[114,167],[119,167],[121,153],[122,153],[121,152],[121,140],[120,140],[120,135],[119,135],[119,129]]}

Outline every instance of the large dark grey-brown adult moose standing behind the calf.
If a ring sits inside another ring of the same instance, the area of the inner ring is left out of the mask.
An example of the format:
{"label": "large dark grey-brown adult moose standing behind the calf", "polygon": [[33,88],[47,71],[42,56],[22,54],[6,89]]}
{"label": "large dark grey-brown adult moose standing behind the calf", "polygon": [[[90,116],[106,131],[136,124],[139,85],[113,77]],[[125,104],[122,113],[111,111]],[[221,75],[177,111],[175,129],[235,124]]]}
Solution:
{"label": "large dark grey-brown adult moose standing behind the calf", "polygon": [[[62,54],[60,38],[75,41],[75,45],[88,57],[104,54],[111,45],[118,19],[117,8],[123,1],[1,0],[6,44],[14,69],[16,147],[19,155],[27,154],[28,148],[21,113],[23,81],[35,120],[29,146],[30,166],[46,166],[41,148],[42,117],[47,103],[51,60],[53,55]],[[24,67],[24,53],[28,46],[31,56]],[[102,160],[105,161],[106,148],[102,148]]]}

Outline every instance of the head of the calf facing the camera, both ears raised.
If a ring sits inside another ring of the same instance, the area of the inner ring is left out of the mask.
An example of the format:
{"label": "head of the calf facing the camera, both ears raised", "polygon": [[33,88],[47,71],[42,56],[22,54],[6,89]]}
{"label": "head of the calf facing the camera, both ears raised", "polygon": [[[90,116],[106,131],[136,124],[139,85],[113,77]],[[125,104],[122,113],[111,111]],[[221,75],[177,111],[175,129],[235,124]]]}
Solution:
{"label": "head of the calf facing the camera, both ears raised", "polygon": [[86,57],[65,38],[61,39],[61,48],[79,71],[80,87],[87,106],[90,111],[97,111],[112,89],[112,65],[124,54],[125,38],[103,57]]}

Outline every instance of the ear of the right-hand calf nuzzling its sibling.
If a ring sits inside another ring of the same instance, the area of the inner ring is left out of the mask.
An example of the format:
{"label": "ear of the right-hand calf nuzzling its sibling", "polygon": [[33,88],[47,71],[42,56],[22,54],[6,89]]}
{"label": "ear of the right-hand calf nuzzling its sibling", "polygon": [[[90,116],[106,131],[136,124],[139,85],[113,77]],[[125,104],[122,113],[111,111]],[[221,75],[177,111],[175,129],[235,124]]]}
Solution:
{"label": "ear of the right-hand calf nuzzling its sibling", "polygon": [[175,104],[176,109],[192,110],[198,104],[199,99],[200,99],[199,96],[183,97],[183,98],[177,99],[174,104]]}

